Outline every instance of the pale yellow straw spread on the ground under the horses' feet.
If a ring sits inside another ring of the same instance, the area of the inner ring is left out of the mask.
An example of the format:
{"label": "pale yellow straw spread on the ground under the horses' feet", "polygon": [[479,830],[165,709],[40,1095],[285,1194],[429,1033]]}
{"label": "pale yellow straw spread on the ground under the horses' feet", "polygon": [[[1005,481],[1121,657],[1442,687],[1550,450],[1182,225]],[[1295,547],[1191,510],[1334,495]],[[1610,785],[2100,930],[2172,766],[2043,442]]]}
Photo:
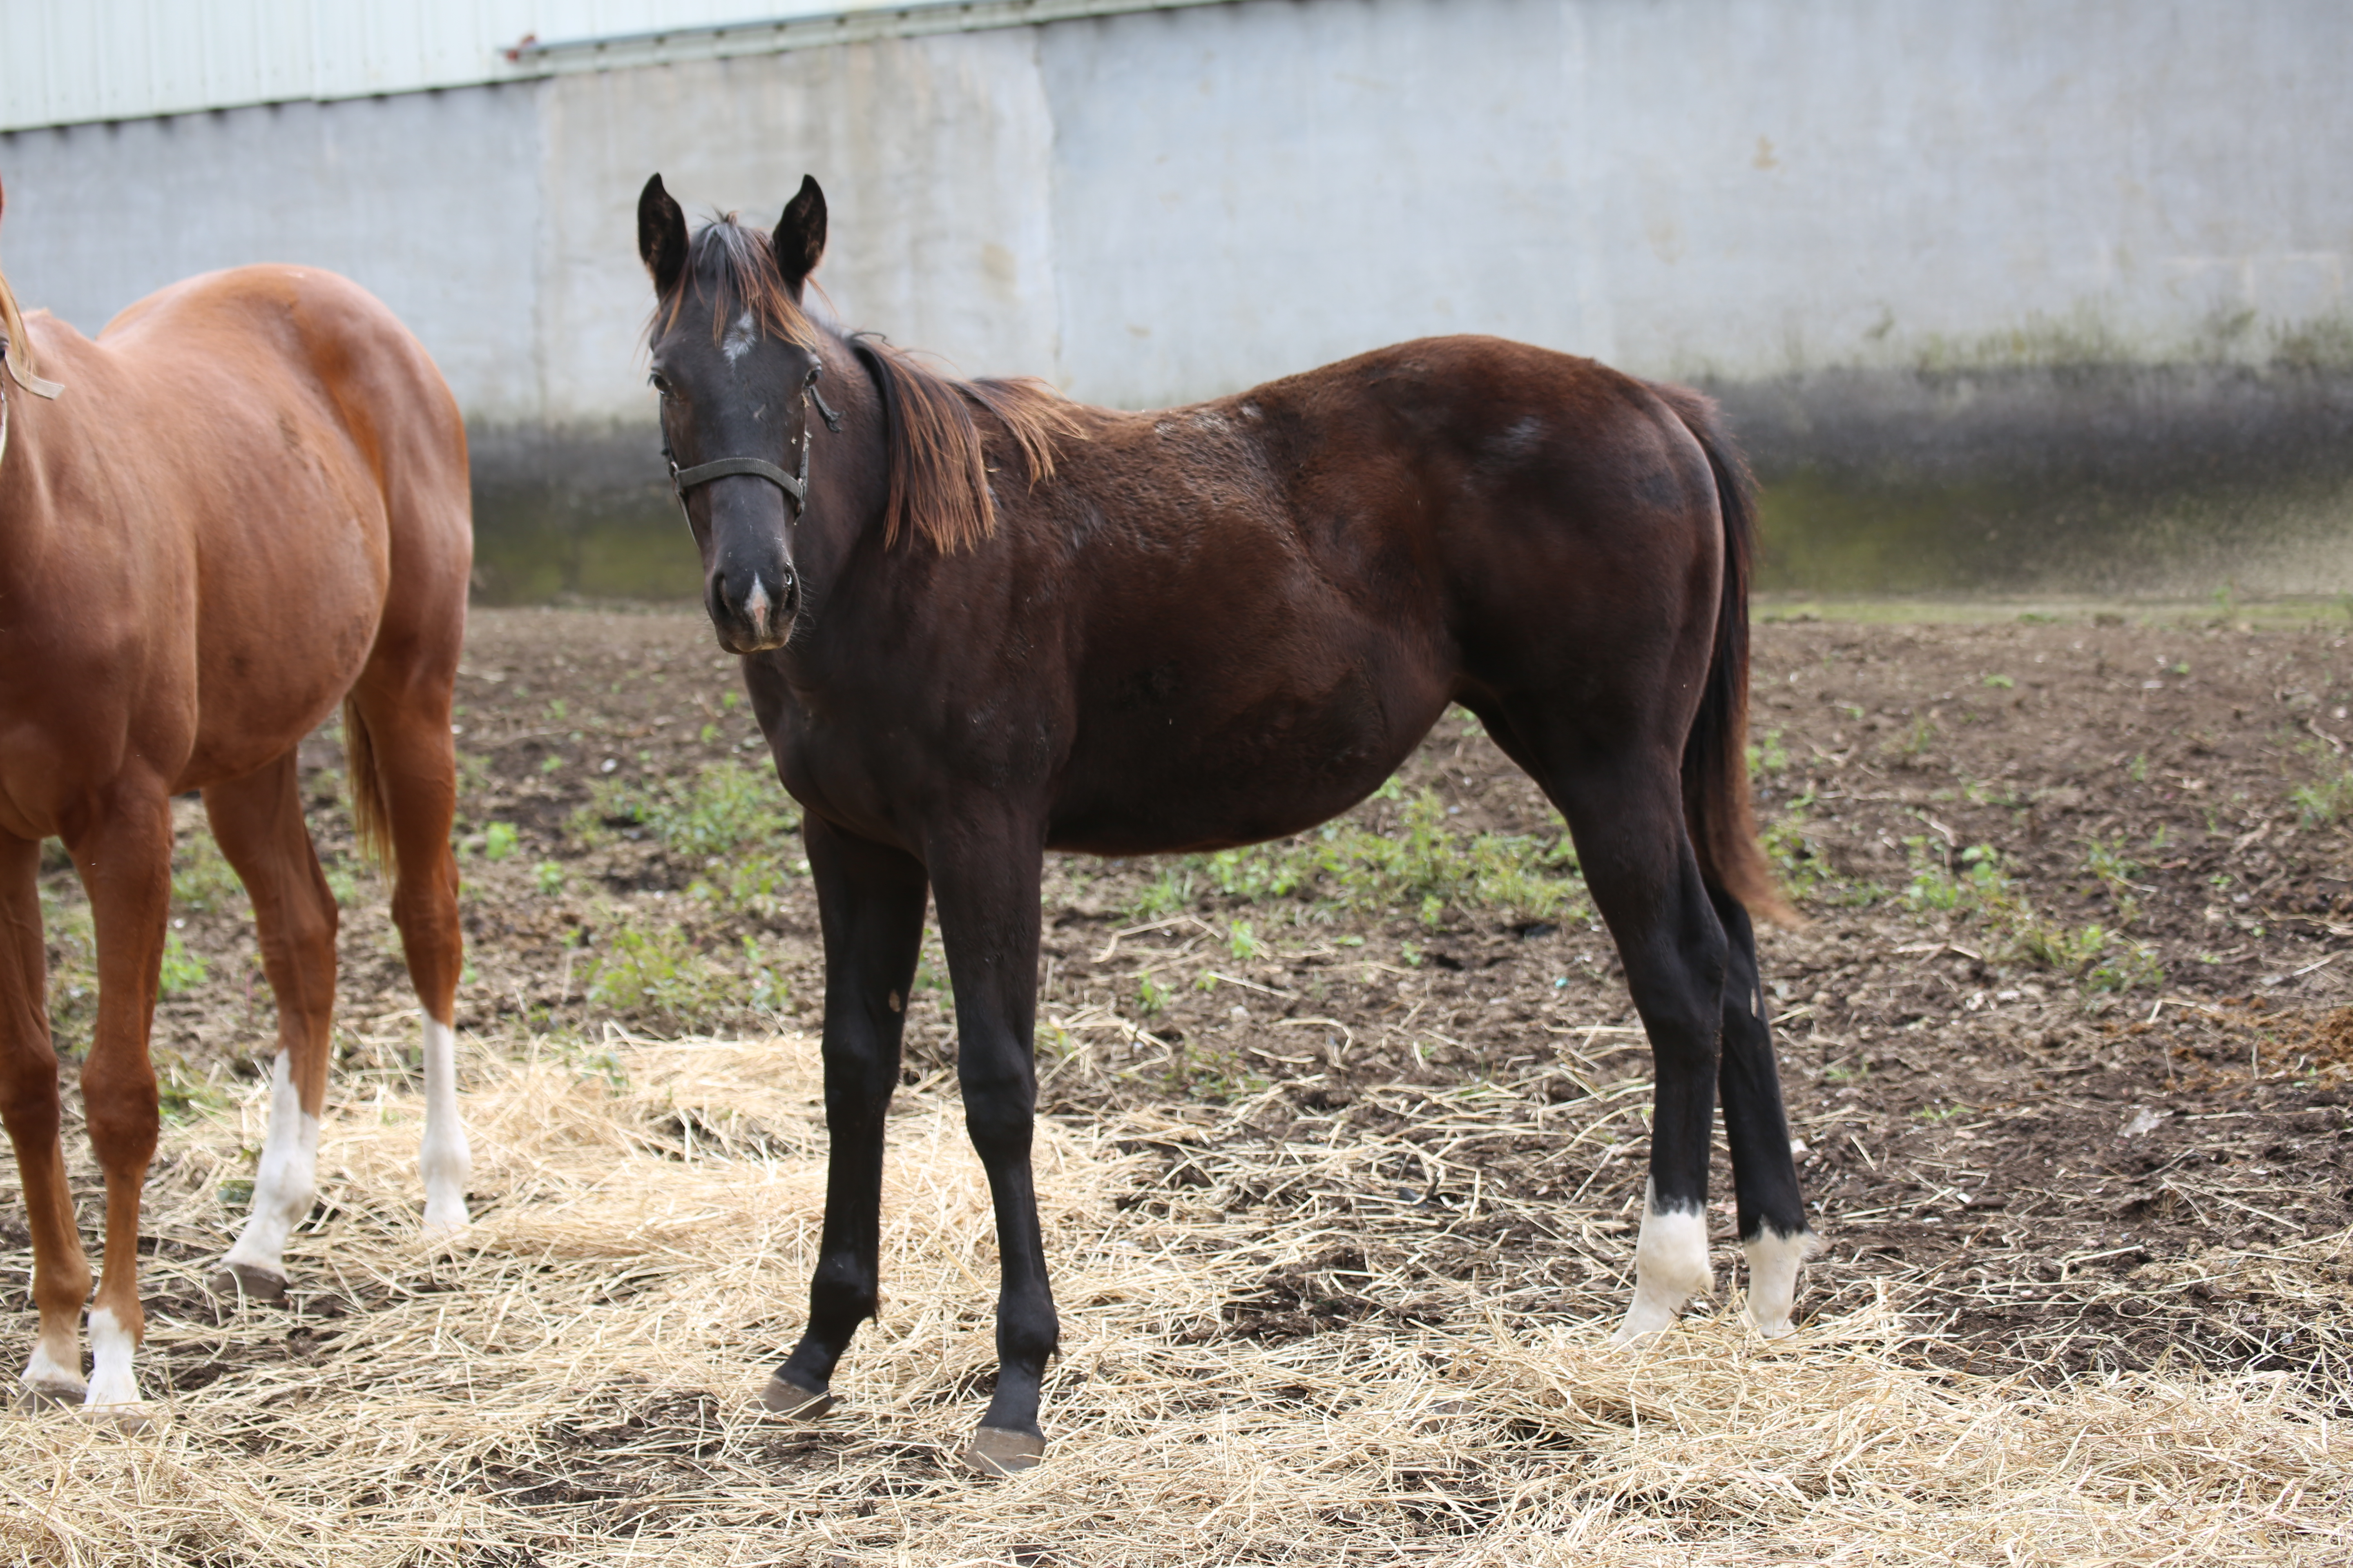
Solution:
{"label": "pale yellow straw spread on the ground under the horses' feet", "polygon": [[[1511,1279],[1379,1279],[1362,1258],[1386,1255],[1384,1227],[1339,1197],[1395,1192],[1393,1150],[1212,1150],[1158,1114],[1040,1128],[1064,1324],[1052,1446],[1014,1481],[967,1479],[951,1455],[991,1375],[995,1258],[951,1086],[899,1098],[882,1321],[842,1363],[845,1408],[795,1427],[753,1392],[798,1333],[816,1244],[814,1044],[616,1041],[593,1060],[480,1053],[468,1072],[466,1246],[435,1258],[414,1239],[419,1103],[346,1086],[285,1309],[214,1321],[200,1305],[231,1220],[219,1190],[249,1171],[266,1105],[169,1138],[146,1276],[165,1418],[129,1439],[71,1413],[5,1418],[9,1556],[1078,1568],[2353,1549],[2353,1439],[2308,1382],[1948,1375],[1913,1354],[1920,1328],[1892,1300],[1765,1347],[1732,1298],[1614,1354],[1598,1319],[1614,1279],[1591,1284],[1593,1316],[1527,1312]],[[1202,1173],[1162,1187],[1155,1150],[1186,1140]],[[1628,1248],[1600,1211],[1562,1220]],[[2346,1244],[2275,1267],[2318,1279]],[[1367,1298],[1419,1305],[1235,1328],[1240,1298],[1334,1255]],[[21,1246],[7,1262],[21,1281]],[[7,1354],[21,1361],[28,1333],[16,1312]]]}

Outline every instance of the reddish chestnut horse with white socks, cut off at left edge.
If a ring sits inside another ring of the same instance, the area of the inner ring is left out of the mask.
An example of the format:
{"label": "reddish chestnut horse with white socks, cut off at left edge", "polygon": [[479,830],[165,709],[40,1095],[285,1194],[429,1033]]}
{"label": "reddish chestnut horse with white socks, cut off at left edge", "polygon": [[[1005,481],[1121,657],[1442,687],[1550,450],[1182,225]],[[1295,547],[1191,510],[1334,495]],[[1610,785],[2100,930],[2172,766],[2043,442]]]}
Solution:
{"label": "reddish chestnut horse with white socks, cut off at left edge", "polygon": [[[278,999],[254,1208],[214,1279],[233,1295],[275,1295],[287,1234],[311,1213],[334,1006],[336,907],[294,748],[336,703],[353,816],[393,865],[393,919],[424,1001],[426,1229],[466,1222],[449,1030],[466,428],[416,339],[358,284],[313,268],[191,277],[94,343],[21,317],[5,284],[0,315],[0,1117],[24,1175],[40,1307],[24,1385],[136,1425],[139,1187],[158,1126],[148,1025],[172,797],[205,792]],[[106,1173],[106,1272],[87,1380],[89,1262],[59,1143],[35,896],[52,835],[89,891],[99,947],[82,1105]]]}

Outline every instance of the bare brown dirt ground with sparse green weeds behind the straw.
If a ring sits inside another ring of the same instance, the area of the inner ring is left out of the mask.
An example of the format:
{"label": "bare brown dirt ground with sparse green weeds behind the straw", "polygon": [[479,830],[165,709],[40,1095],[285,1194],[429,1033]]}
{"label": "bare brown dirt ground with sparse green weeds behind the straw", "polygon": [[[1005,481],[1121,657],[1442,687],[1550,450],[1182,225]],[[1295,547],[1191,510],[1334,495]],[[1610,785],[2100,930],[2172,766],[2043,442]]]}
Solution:
{"label": "bare brown dirt ground with sparse green weeds behind the straw", "polygon": [[[689,611],[475,614],[456,717],[466,1030],[593,1063],[609,1025],[814,1027],[814,900],[734,663]],[[2172,1361],[2341,1403],[2344,1248],[2304,1276],[2329,1288],[2297,1295],[2261,1260],[2353,1225],[2348,710],[2341,625],[1762,616],[1760,818],[1809,919],[1769,931],[1762,959],[1828,1241],[1800,1316],[1885,1293],[1937,1366],[2057,1380]],[[304,762],[346,903],[344,1063],[400,1074],[414,999],[353,858],[332,726]],[[271,1048],[247,905],[200,823],[181,802],[155,1018],[184,1117]],[[45,900],[71,1053],[92,954],[61,858]],[[944,976],[932,936],[908,1084],[953,1070]],[[1042,987],[1045,1110],[1169,1128],[1134,1140],[1151,1159],[1129,1204],[1214,1192],[1228,1215],[1278,1213],[1313,1182],[1219,1182],[1219,1150],[1391,1152],[1391,1211],[1235,1279],[1209,1338],[1414,1324],[1464,1279],[1506,1281],[1515,1314],[1548,1321],[1626,1269],[1647,1051],[1560,820],[1461,712],[1334,830],[1191,863],[1052,860]],[[1534,1110],[1468,1117],[1487,1091]],[[1621,1112],[1560,1147],[1546,1107],[1588,1095]],[[5,1197],[14,1342],[31,1305]],[[224,1244],[238,1199],[224,1187]]]}

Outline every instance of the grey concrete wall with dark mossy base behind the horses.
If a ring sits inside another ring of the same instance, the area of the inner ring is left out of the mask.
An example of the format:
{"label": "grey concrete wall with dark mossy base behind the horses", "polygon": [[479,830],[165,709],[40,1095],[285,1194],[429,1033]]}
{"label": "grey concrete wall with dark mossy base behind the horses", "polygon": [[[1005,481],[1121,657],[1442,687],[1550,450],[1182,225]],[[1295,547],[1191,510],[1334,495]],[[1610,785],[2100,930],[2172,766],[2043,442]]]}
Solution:
{"label": "grey concrete wall with dark mossy base behind the horses", "polygon": [[2344,590],[2346,80],[2341,0],[1247,0],[9,134],[0,256],[85,329],[360,277],[555,557],[661,515],[645,174],[807,169],[840,315],[965,371],[1144,407],[1497,331],[1725,395],[1784,581]]}

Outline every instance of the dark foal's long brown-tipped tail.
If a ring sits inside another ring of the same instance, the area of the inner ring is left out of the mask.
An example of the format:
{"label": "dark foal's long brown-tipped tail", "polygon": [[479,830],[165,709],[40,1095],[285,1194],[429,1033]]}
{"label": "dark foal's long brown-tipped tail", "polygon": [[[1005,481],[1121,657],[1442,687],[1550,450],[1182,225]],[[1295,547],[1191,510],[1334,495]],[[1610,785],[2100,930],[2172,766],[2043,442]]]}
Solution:
{"label": "dark foal's long brown-tipped tail", "polygon": [[1699,851],[1699,875],[1760,917],[1784,926],[1798,912],[1774,886],[1748,804],[1748,564],[1755,555],[1755,484],[1722,433],[1715,404],[1680,386],[1652,388],[1708,454],[1715,505],[1725,517],[1725,581],[1715,607],[1715,651],[1699,715],[1682,743],[1682,813]]}

